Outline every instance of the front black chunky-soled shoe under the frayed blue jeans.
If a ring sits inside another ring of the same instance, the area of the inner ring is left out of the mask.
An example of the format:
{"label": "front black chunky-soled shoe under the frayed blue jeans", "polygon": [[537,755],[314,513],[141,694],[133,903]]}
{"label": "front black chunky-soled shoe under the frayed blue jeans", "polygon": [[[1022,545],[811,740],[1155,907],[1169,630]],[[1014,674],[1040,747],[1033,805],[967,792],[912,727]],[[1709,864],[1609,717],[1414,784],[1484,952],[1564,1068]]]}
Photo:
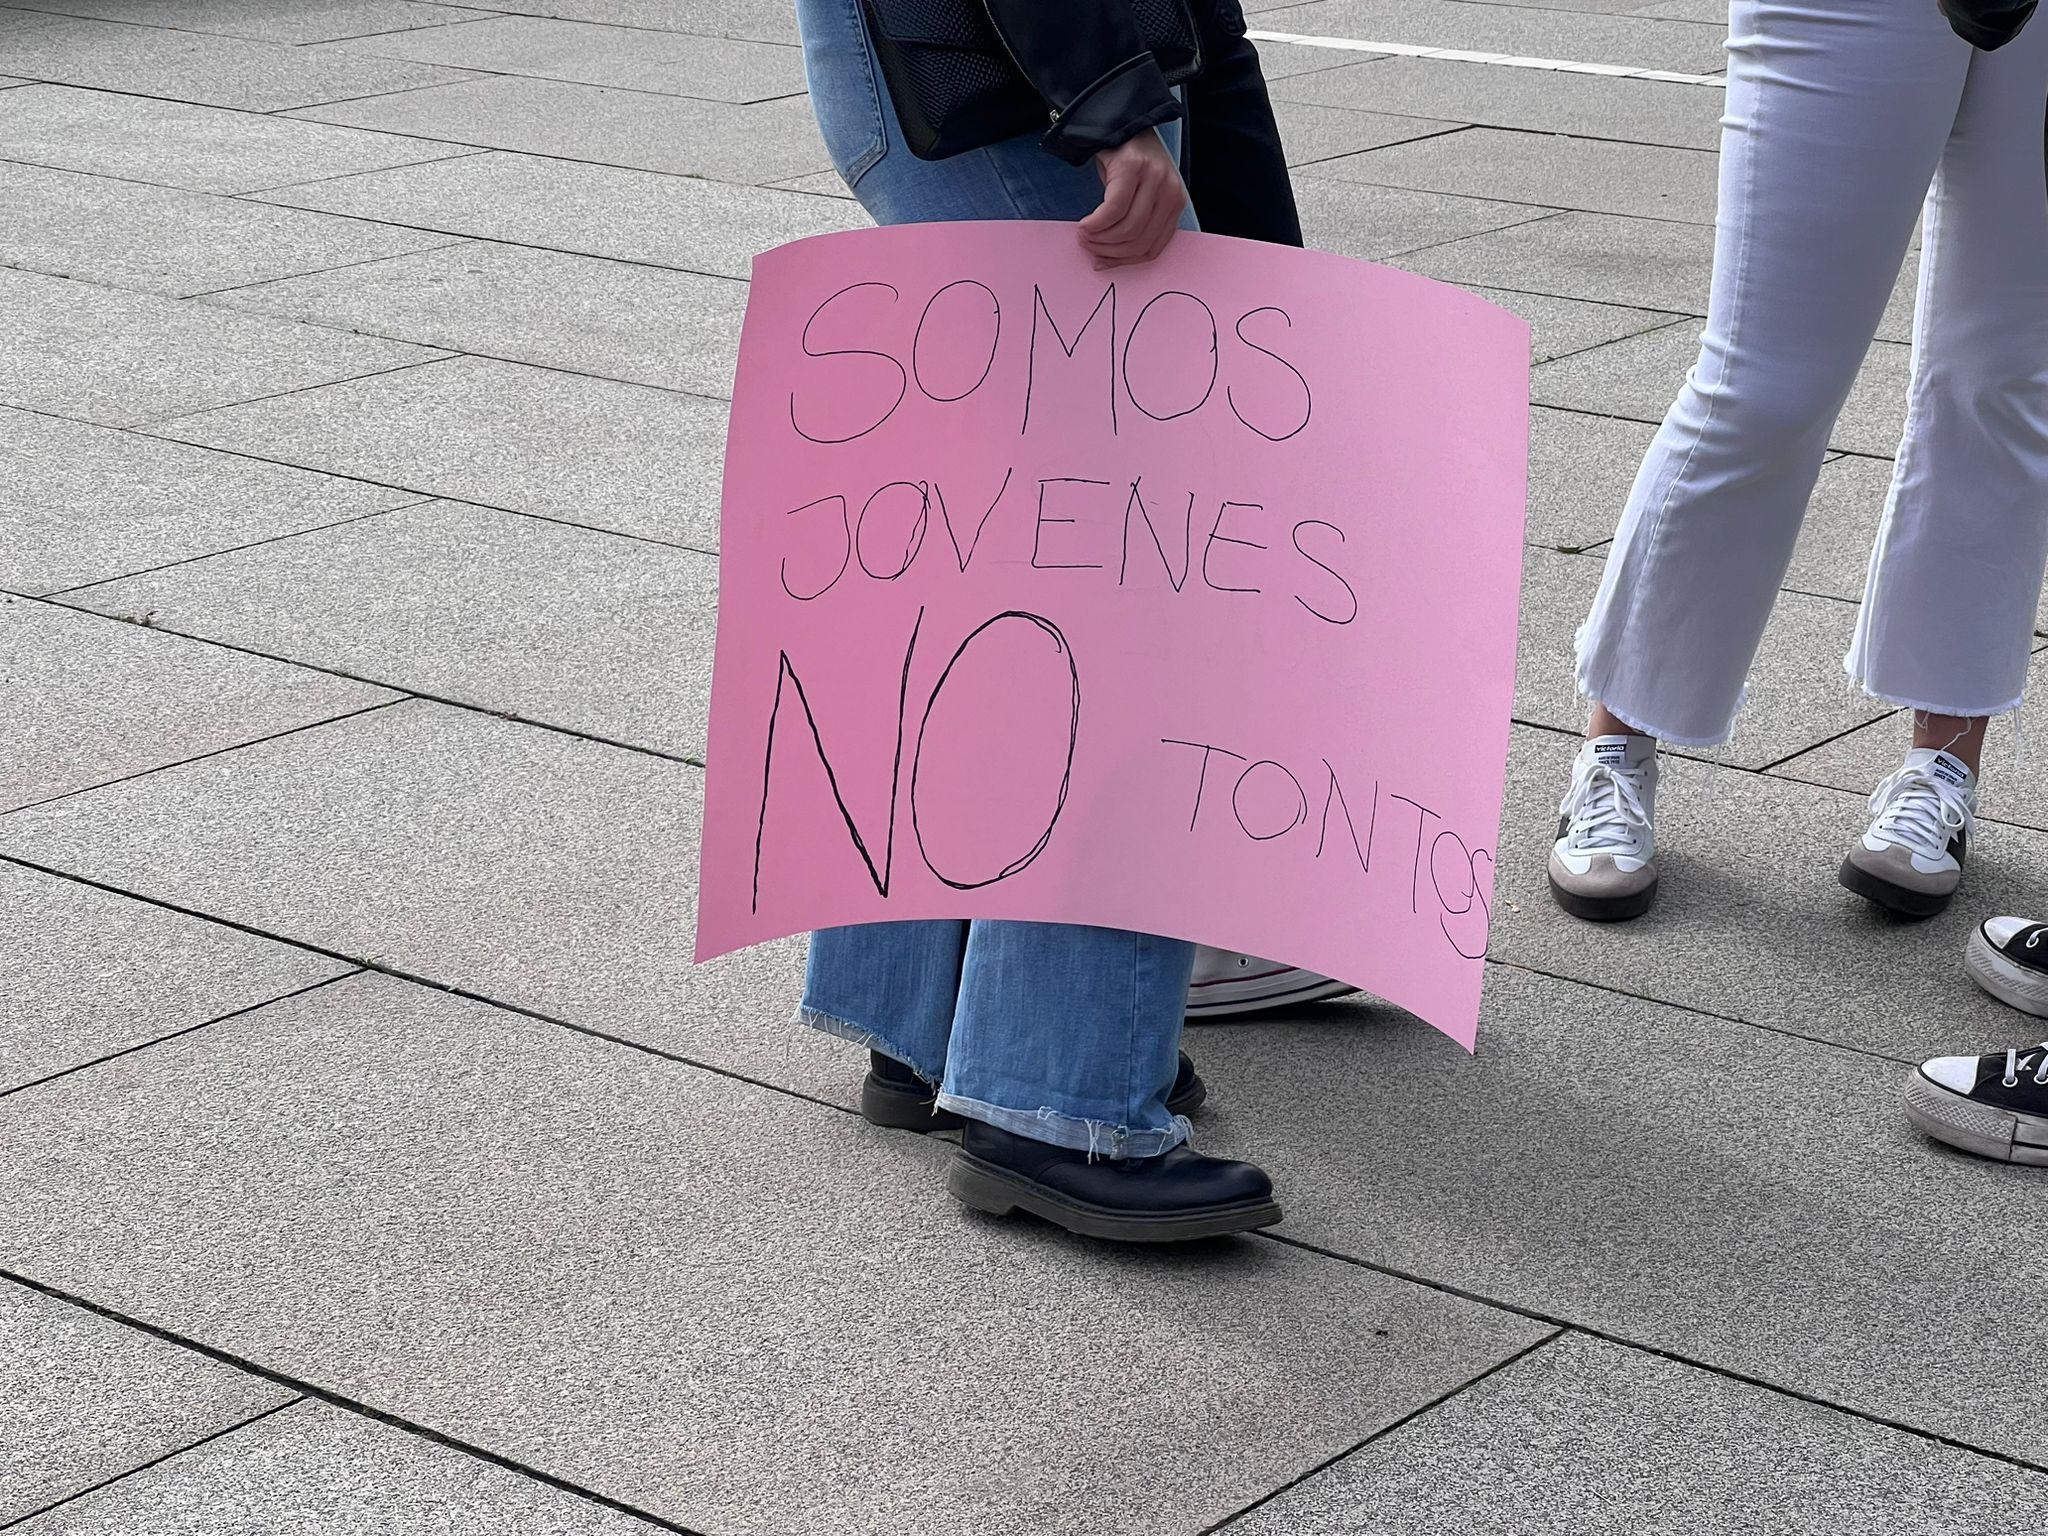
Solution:
{"label": "front black chunky-soled shoe under the frayed blue jeans", "polygon": [[969,1120],[948,1178],[975,1210],[1030,1210],[1083,1237],[1184,1243],[1280,1221],[1264,1169],[1176,1147],[1159,1157],[1096,1157]]}

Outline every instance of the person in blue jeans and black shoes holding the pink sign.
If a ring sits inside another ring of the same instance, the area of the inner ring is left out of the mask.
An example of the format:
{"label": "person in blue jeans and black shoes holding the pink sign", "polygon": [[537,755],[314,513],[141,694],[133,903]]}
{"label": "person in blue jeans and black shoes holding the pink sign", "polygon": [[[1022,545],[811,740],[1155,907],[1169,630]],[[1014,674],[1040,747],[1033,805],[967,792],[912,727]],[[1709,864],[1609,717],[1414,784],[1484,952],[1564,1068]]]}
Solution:
{"label": "person in blue jeans and black shoes holding the pink sign", "polygon": [[[819,131],[877,223],[1059,219],[1098,266],[1153,260],[1196,227],[1182,104],[1128,0],[987,0],[987,14],[1051,127],[920,160],[862,0],[797,0]],[[1262,1169],[1188,1145],[1204,1098],[1180,1053],[1192,971],[1192,944],[1108,928],[834,928],[811,936],[799,1020],[868,1047],[868,1120],[961,1130],[950,1188],[965,1204],[1182,1241],[1280,1221]]]}

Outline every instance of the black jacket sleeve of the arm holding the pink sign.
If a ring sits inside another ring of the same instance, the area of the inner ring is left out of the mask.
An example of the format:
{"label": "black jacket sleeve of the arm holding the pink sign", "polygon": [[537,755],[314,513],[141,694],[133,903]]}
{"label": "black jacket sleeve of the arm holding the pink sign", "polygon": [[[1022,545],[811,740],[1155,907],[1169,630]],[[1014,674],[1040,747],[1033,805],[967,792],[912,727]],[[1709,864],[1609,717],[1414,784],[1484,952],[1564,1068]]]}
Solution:
{"label": "black jacket sleeve of the arm holding the pink sign", "polygon": [[1128,0],[983,0],[995,33],[1047,104],[1038,139],[1061,160],[1087,158],[1182,115]]}

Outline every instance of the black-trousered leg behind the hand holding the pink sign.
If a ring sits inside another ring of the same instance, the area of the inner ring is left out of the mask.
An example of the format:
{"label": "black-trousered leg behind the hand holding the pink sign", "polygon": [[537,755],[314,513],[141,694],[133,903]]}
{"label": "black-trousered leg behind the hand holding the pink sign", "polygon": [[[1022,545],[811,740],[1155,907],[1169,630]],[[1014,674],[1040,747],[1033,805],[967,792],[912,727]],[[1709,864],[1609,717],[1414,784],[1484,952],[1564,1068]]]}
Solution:
{"label": "black-trousered leg behind the hand holding the pink sign", "polygon": [[1188,82],[1188,195],[1212,236],[1298,246],[1300,213],[1260,51],[1239,0],[1196,0],[1202,74]]}

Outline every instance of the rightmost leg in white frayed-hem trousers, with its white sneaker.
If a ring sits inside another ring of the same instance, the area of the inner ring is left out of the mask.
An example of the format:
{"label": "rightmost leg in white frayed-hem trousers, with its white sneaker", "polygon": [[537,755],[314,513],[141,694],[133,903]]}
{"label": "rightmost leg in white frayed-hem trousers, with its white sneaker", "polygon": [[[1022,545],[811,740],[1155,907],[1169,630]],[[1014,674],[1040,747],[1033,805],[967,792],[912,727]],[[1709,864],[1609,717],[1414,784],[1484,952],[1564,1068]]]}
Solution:
{"label": "rightmost leg in white frayed-hem trousers, with its white sneaker", "polygon": [[1913,709],[1841,883],[1942,911],[1976,829],[1985,727],[2019,705],[2048,565],[2048,33],[1970,59],[1923,221],[1913,387],[1849,676]]}

